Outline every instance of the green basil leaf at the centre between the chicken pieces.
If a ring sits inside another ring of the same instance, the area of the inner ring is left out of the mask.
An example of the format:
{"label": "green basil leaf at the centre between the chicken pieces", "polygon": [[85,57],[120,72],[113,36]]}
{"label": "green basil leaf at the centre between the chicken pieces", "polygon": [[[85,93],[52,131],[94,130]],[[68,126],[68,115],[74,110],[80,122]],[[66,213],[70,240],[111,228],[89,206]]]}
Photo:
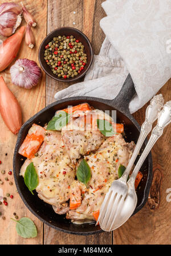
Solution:
{"label": "green basil leaf at the centre between the chicken pieces", "polygon": [[76,171],[76,177],[80,182],[84,183],[87,186],[87,183],[91,178],[91,171],[85,159],[80,162],[80,165]]}

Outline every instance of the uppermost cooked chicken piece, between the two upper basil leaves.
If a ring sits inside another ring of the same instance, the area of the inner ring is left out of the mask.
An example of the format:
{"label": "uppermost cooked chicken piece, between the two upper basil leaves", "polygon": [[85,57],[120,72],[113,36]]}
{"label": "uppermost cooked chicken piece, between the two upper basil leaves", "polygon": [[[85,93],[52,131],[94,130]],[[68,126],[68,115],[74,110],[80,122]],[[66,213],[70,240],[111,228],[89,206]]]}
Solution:
{"label": "uppermost cooked chicken piece, between the two upper basil leaves", "polygon": [[101,110],[89,111],[87,115],[70,119],[62,129],[62,139],[72,162],[76,162],[82,155],[97,150],[105,137],[97,129],[97,118],[111,118]]}

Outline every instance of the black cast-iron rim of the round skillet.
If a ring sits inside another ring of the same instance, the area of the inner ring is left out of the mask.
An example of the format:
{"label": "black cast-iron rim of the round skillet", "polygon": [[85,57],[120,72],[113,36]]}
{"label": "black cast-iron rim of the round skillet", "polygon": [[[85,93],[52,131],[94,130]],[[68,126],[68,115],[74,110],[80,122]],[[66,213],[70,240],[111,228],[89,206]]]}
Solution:
{"label": "black cast-iron rim of the round skillet", "polygon": [[[62,231],[64,233],[75,234],[75,235],[92,235],[92,234],[102,233],[104,231],[101,230],[101,229],[95,230],[95,231],[85,231],[85,232],[84,231],[70,231],[70,230],[66,230],[66,229],[61,229],[60,227],[56,227],[56,226],[52,225],[50,222],[47,222],[42,217],[40,217],[39,214],[37,214],[36,211],[34,211],[28,205],[25,197],[23,196],[22,191],[21,191],[21,189],[19,187],[19,184],[18,184],[17,173],[16,173],[16,170],[15,170],[15,161],[17,161],[18,145],[19,145],[19,142],[21,141],[22,133],[23,133],[23,130],[25,129],[25,127],[30,125],[30,123],[35,118],[38,118],[40,114],[44,113],[46,110],[50,109],[51,107],[59,105],[60,103],[69,102],[69,101],[79,101],[79,100],[100,102],[100,103],[104,103],[105,105],[113,107],[113,109],[116,109],[121,114],[125,115],[133,123],[133,125],[136,126],[137,130],[140,133],[140,125],[136,121],[136,119],[133,118],[133,116],[129,113],[128,110],[125,110],[125,113],[124,113],[124,111],[122,109],[120,109],[119,106],[115,107],[114,106],[115,102],[113,102],[113,100],[96,98],[96,97],[86,97],[86,96],[70,97],[70,98],[60,99],[59,101],[55,101],[55,102],[51,103],[50,105],[47,105],[42,110],[40,110],[38,113],[33,115],[31,118],[29,118],[25,123],[23,123],[21,129],[19,130],[17,142],[15,144],[14,157],[13,157],[13,172],[14,172],[15,185],[17,187],[17,191],[18,191],[20,197],[22,198],[22,201],[25,203],[25,205],[28,208],[28,210],[30,210],[32,214],[34,214],[38,219],[40,219],[40,221],[42,221],[43,223],[46,223],[46,225],[52,227],[53,229]],[[147,142],[148,142],[148,140],[145,139],[145,142],[144,142],[145,145],[146,145]],[[140,205],[138,207],[136,207],[136,209],[133,212],[132,216],[143,208],[143,206],[145,205],[145,203],[146,203],[146,201],[148,199],[148,194],[149,194],[150,186],[151,186],[151,183],[152,183],[152,154],[151,154],[151,152],[147,156],[147,159],[148,159],[148,177],[147,177],[147,180],[146,180],[146,185],[145,185],[145,189],[144,189],[144,195],[143,195],[143,198],[142,198],[142,201],[141,201]]]}

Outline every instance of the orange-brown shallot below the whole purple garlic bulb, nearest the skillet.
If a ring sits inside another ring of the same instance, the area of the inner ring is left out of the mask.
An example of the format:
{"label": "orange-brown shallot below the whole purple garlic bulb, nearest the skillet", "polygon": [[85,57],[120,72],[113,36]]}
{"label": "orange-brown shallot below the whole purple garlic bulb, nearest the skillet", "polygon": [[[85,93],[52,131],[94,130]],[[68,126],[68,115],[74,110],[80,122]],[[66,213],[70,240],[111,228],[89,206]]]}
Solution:
{"label": "orange-brown shallot below the whole purple garlic bulb, nearest the skillet", "polygon": [[0,113],[9,130],[18,134],[22,126],[22,111],[17,98],[7,87],[3,77],[0,77]]}

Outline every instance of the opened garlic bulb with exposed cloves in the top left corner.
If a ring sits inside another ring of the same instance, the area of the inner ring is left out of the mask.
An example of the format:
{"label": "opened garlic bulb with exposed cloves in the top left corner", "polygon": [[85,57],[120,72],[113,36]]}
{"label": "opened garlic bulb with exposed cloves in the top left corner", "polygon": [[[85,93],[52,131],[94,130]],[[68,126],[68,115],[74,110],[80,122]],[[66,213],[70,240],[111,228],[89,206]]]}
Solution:
{"label": "opened garlic bulb with exposed cloves in the top left corner", "polygon": [[21,7],[17,3],[2,3],[0,6],[0,34],[8,37],[21,24]]}

